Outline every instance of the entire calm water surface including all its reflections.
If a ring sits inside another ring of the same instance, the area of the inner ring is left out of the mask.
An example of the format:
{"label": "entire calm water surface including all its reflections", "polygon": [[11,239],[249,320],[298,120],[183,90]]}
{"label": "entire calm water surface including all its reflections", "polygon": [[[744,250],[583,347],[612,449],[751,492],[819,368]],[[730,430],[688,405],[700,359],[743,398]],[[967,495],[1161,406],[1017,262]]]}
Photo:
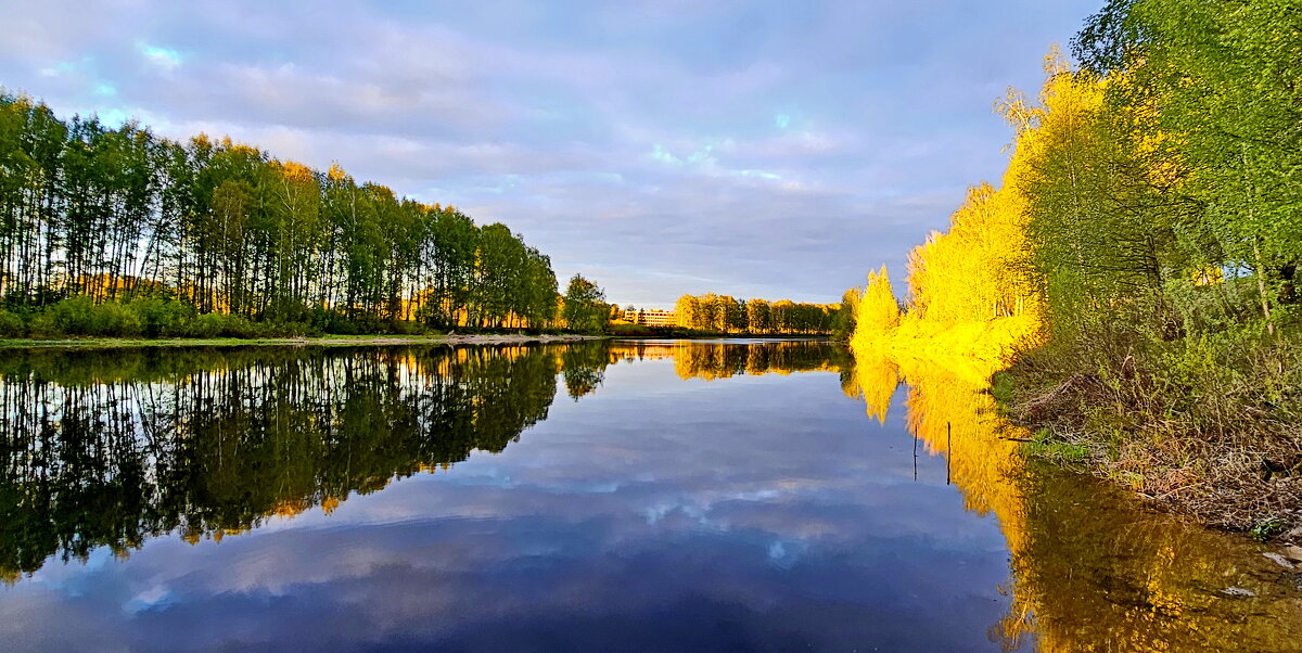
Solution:
{"label": "entire calm water surface including all its reflections", "polygon": [[1027,466],[979,376],[820,342],[4,353],[0,648],[1302,649],[1297,576]]}

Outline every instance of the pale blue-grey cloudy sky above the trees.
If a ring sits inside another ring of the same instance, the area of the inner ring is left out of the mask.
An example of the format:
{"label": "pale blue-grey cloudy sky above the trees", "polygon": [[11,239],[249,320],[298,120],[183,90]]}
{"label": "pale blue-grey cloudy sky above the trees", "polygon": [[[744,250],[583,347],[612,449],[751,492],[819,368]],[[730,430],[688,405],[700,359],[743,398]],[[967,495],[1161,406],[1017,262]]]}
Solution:
{"label": "pale blue-grey cloudy sky above the trees", "polygon": [[0,0],[0,86],[503,222],[621,304],[836,302],[999,182],[1100,0]]}

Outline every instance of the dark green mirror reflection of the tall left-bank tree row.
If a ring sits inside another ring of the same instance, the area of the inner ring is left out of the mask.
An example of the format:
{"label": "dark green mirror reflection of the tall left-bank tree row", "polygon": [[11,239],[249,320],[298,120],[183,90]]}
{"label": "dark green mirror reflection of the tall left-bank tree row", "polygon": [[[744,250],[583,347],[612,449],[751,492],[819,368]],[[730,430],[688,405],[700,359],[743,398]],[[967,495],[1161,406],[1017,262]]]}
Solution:
{"label": "dark green mirror reflection of the tall left-bank tree row", "polygon": [[[0,575],[118,555],[501,451],[547,418],[556,349],[49,350],[0,360]],[[575,364],[578,369],[581,366]],[[572,392],[575,392],[572,389]]]}

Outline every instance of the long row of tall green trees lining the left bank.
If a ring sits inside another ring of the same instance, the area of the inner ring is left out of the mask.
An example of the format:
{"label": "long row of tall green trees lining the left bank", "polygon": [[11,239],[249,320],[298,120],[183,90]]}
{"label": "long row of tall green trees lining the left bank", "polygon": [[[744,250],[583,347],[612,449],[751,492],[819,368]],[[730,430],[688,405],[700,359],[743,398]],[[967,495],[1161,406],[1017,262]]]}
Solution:
{"label": "long row of tall green trees lining the left bank", "polygon": [[557,290],[505,225],[337,164],[0,95],[0,336],[544,328]]}

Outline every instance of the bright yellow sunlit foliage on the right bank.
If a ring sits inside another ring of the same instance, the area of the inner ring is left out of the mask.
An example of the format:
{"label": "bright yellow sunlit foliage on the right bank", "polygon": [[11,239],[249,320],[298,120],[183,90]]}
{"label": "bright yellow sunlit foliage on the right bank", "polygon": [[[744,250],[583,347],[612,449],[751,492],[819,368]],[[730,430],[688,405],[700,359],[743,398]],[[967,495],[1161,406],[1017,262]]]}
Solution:
{"label": "bright yellow sunlit foliage on the right bank", "polygon": [[[1010,91],[999,107],[1016,130],[1003,185],[969,189],[949,229],[932,232],[909,252],[909,303],[902,317],[891,316],[880,299],[861,302],[852,340],[857,350],[1005,363],[1016,347],[1040,338],[1042,298],[1026,273],[1029,203],[1022,189],[1035,181],[1047,152],[1062,147],[1056,138],[1088,133],[1075,127],[1104,100],[1104,82],[1073,75],[1056,49],[1046,59],[1046,73],[1038,104]],[[865,294],[883,289],[889,289],[884,271],[881,278],[870,276]],[[883,329],[891,321],[896,326]]]}

